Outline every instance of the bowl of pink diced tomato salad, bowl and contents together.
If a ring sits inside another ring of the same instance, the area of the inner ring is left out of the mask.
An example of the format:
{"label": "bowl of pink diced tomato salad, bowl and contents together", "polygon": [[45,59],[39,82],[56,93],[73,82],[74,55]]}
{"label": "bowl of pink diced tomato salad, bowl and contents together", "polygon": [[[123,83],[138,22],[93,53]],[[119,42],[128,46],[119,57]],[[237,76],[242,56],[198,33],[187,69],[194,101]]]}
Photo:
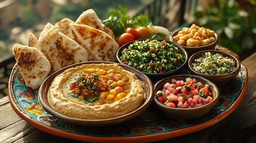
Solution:
{"label": "bowl of pink diced tomato salad, bowl and contents together", "polygon": [[202,117],[218,102],[217,86],[200,76],[180,74],[159,80],[154,102],[167,117],[190,120]]}

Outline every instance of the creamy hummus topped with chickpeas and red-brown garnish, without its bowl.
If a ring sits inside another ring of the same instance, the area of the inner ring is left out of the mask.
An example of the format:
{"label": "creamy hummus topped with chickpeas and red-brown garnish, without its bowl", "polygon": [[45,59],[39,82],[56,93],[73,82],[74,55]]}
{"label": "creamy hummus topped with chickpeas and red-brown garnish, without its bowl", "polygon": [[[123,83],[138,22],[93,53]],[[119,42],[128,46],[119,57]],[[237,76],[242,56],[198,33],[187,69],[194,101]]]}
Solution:
{"label": "creamy hummus topped with chickpeas and red-brown garnish, without its bowl", "polygon": [[55,77],[48,99],[66,116],[108,119],[140,107],[144,91],[135,74],[118,64],[85,64]]}

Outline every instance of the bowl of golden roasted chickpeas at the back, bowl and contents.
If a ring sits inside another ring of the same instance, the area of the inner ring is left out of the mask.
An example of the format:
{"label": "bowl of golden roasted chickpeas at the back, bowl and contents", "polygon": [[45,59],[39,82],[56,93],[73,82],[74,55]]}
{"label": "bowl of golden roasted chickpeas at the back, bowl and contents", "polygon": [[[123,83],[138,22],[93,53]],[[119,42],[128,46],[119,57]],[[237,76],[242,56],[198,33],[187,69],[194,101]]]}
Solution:
{"label": "bowl of golden roasted chickpeas at the back, bowl and contents", "polygon": [[183,27],[173,32],[170,40],[186,49],[190,56],[205,49],[214,49],[218,35],[214,30],[192,24],[190,27]]}

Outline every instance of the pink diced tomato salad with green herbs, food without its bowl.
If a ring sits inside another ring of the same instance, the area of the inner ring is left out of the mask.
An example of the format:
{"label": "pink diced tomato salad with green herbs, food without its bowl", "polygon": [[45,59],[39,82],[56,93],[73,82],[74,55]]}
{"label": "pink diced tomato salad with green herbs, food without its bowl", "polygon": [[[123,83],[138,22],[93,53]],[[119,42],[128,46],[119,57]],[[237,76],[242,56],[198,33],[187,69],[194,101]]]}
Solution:
{"label": "pink diced tomato salad with green herbs, food without its bowl", "polygon": [[156,92],[156,97],[164,105],[173,108],[200,107],[212,101],[209,85],[203,85],[193,77],[185,81],[172,79],[165,83],[162,91]]}

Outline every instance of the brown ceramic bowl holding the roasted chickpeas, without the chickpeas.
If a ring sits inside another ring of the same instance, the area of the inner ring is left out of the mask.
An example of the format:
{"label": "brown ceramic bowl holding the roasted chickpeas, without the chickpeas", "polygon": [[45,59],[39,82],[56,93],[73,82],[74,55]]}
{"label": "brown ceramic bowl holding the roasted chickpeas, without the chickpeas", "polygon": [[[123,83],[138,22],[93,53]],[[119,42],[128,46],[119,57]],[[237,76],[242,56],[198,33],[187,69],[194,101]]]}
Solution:
{"label": "brown ceramic bowl holding the roasted chickpeas, without the chickpeas", "polygon": [[[178,30],[176,30],[175,32],[173,32],[171,34],[170,41],[177,43],[177,41],[175,41],[173,39],[173,37],[176,36],[180,30],[181,29],[178,29]],[[218,43],[218,35],[216,33],[214,33],[214,38],[215,38],[214,42],[209,43],[208,45],[205,45],[205,46],[182,46],[182,45],[180,45],[180,46],[182,48],[186,49],[189,56],[191,56],[191,55],[193,55],[193,54],[195,54],[196,52],[199,52],[199,51],[203,51],[203,50],[206,50],[206,49],[214,49],[215,46]]]}

